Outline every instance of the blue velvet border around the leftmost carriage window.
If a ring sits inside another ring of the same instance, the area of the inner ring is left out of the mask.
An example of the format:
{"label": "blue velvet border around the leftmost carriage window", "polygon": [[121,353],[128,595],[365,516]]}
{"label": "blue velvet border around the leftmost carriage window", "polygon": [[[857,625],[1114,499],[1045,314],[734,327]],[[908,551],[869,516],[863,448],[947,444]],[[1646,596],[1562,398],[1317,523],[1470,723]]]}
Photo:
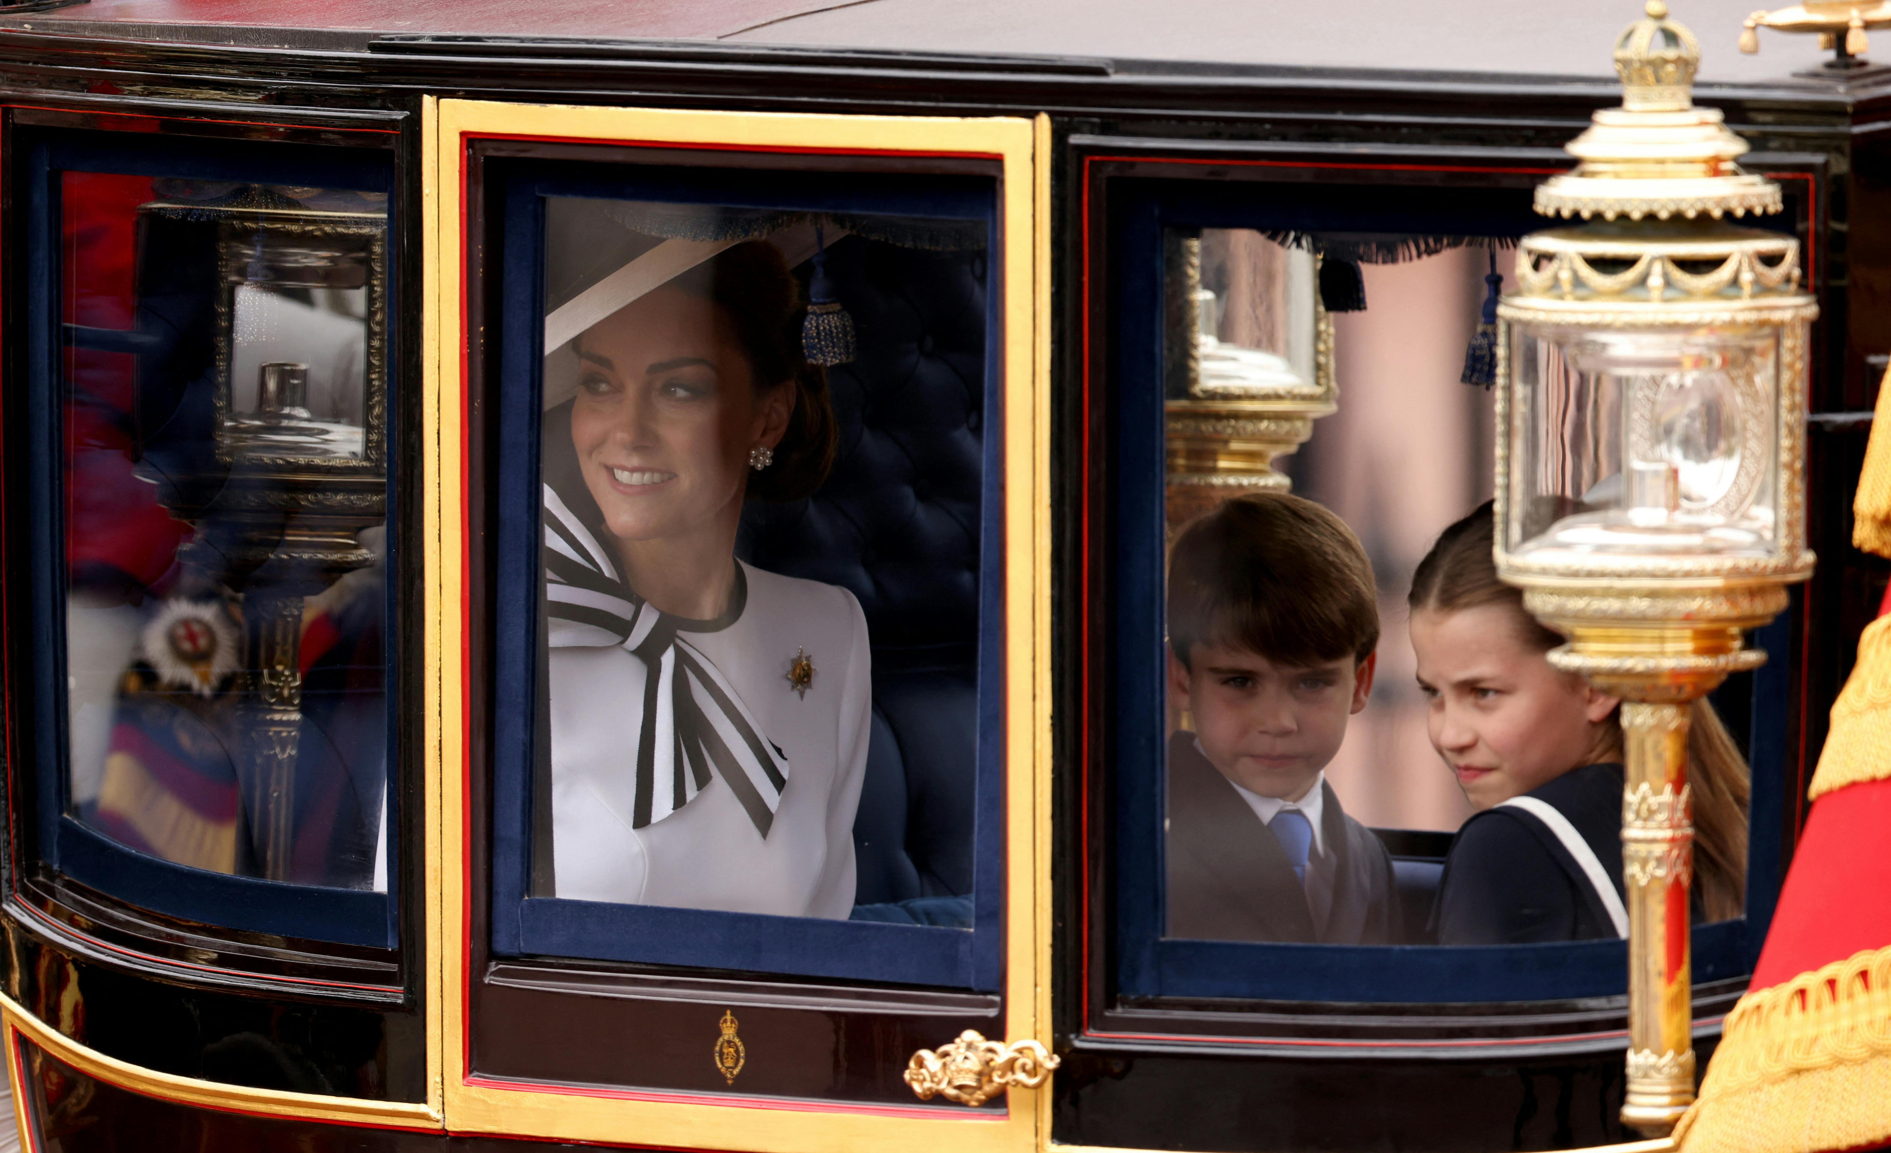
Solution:
{"label": "blue velvet border around the leftmost carriage window", "polygon": [[[61,174],[113,172],[130,176],[172,176],[191,180],[240,180],[274,185],[314,185],[325,189],[359,189],[393,193],[393,153],[380,149],[348,149],[291,144],[255,144],[223,140],[185,140],[176,136],[49,132],[15,130],[13,146],[23,153],[19,172],[21,198],[26,221],[26,380],[32,382],[28,410],[28,461],[32,469],[32,516],[28,542],[32,556],[32,646],[34,662],[34,730],[38,739],[34,771],[38,777],[36,828],[40,854],[47,866],[74,881],[112,894],[132,905],[166,913],[200,924],[278,934],[306,941],[331,941],[391,949],[399,943],[397,902],[393,900],[399,869],[390,868],[390,892],[287,885],[255,877],[234,877],[170,864],[136,852],[96,834],[66,815],[66,694],[64,694],[64,482],[61,448],[61,395],[64,382],[59,370],[61,335]],[[390,195],[388,251],[399,251],[399,219]],[[388,270],[388,316],[399,316],[395,306],[395,274]],[[393,433],[393,325],[388,327],[390,404],[388,444],[397,444]],[[393,493],[397,465],[388,461],[388,486]],[[391,501],[390,501],[391,507]],[[399,588],[399,537],[390,518],[388,588]],[[393,707],[393,660],[397,660],[399,629],[395,628],[393,597],[388,597],[388,860],[399,860],[399,818],[393,788],[393,766],[399,764],[399,731]],[[25,815],[17,815],[25,818]]]}

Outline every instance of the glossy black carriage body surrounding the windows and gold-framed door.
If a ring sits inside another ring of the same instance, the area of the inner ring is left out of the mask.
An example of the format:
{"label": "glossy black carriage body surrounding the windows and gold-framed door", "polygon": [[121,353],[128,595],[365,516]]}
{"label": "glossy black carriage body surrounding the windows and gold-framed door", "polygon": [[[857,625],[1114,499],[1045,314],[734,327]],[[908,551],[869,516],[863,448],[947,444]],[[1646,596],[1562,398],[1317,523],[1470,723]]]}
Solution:
{"label": "glossy black carriage body surrounding the windows and gold-framed door", "polygon": [[[516,6],[495,26],[499,17],[484,8],[456,13],[446,4],[422,6],[408,23],[384,19],[393,9],[337,2],[312,9],[314,15],[297,13],[295,26],[257,26],[234,13],[234,15],[204,6],[208,17],[163,0],[30,8],[38,6],[0,8],[6,180],[0,297],[8,333],[0,403],[8,429],[11,811],[8,949],[0,968],[8,998],[38,1021],[42,1038],[64,1038],[110,1062],[168,1077],[113,1079],[106,1066],[74,1066],[57,1043],[45,1045],[28,1030],[9,1032],[17,1047],[13,1064],[21,1070],[15,1085],[28,1089],[23,1117],[38,1140],[59,1142],[40,1147],[526,1147],[524,1136],[473,1132],[486,1128],[486,1121],[456,1132],[450,1110],[444,1117],[424,1115],[429,1102],[437,1108],[441,1100],[433,1083],[441,1076],[437,1049],[461,1043],[471,1045],[471,1066],[499,1081],[539,1077],[626,1093],[715,1089],[705,1081],[713,1081],[707,1057],[700,1060],[702,1077],[683,1077],[668,1072],[668,1051],[635,1055],[575,1045],[565,1030],[581,1028],[594,1013],[620,1036],[675,1032],[688,1038],[677,1041],[685,1053],[694,1053],[694,1045],[707,1055],[698,1019],[709,1013],[713,1021],[724,1000],[747,1006],[745,1028],[753,1017],[755,1030],[747,1034],[751,1053],[775,1043],[792,1053],[796,1066],[753,1079],[756,1102],[787,1100],[815,1111],[915,1110],[900,1081],[911,1051],[944,1043],[961,1028],[1004,1032],[995,981],[942,989],[930,981],[494,955],[486,943],[494,902],[475,886],[471,1004],[484,1021],[475,1021],[463,1036],[431,1034],[425,1006],[441,970],[429,966],[437,964],[435,949],[452,955],[461,941],[442,938],[433,909],[441,881],[429,869],[425,813],[437,801],[427,798],[429,750],[418,722],[395,722],[390,754],[395,856],[386,890],[393,926],[388,947],[323,943],[282,926],[244,928],[240,917],[219,924],[214,917],[157,911],[47,864],[38,817],[45,784],[36,766],[57,756],[61,726],[45,684],[36,680],[51,641],[30,624],[43,605],[28,558],[49,546],[51,539],[36,533],[47,531],[57,508],[43,493],[43,461],[30,433],[42,420],[38,406],[45,404],[34,397],[42,387],[34,372],[51,353],[34,352],[23,336],[38,323],[36,291],[51,291],[47,282],[34,282],[42,274],[36,261],[45,259],[36,255],[43,240],[34,229],[43,231],[45,221],[34,217],[43,212],[43,189],[30,185],[47,180],[43,164],[34,166],[34,149],[96,147],[117,155],[113,149],[129,140],[153,155],[200,151],[257,155],[269,163],[335,155],[388,172],[393,287],[386,395],[388,459],[395,476],[388,524],[397,539],[410,542],[403,563],[391,569],[390,648],[420,654],[429,645],[422,609],[431,563],[420,542],[433,527],[420,491],[431,446],[422,435],[425,412],[416,382],[425,370],[429,340],[450,342],[450,335],[429,329],[427,291],[454,291],[465,278],[469,314],[488,318],[492,327],[505,321],[501,302],[482,297],[492,285],[461,268],[441,268],[439,289],[427,287],[433,282],[424,261],[424,225],[439,181],[452,180],[433,168],[425,151],[431,100],[834,117],[1048,117],[1048,200],[1038,212],[1048,214],[1042,227],[1050,240],[1044,319],[1051,616],[1044,684],[1051,775],[1044,794],[1048,873],[1036,885],[1050,924],[1038,979],[1048,987],[1042,1002],[1050,1013],[1048,1036],[1063,1064],[1048,1121],[1038,1127],[1040,1144],[1486,1151],[1634,1140],[1617,1117],[1626,1030],[1621,994],[1503,992],[1479,1000],[1475,992],[1454,992],[1424,1000],[1397,989],[1377,998],[1148,992],[1125,975],[1121,902],[1125,885],[1136,881],[1118,868],[1123,837],[1135,837],[1125,834],[1118,803],[1125,796],[1119,766],[1127,756],[1123,743],[1136,739],[1116,722],[1119,694],[1159,692],[1118,675],[1123,656],[1118,612],[1152,592],[1119,554],[1127,531],[1121,461],[1146,454],[1146,446],[1133,442],[1133,414],[1123,410],[1125,372],[1135,370],[1135,348],[1125,352],[1123,333],[1135,329],[1135,308],[1144,301],[1138,293],[1148,291],[1146,270],[1135,267],[1148,255],[1133,244],[1144,219],[1138,214],[1169,206],[1163,210],[1180,214],[1174,219],[1195,212],[1201,221],[1240,227],[1240,214],[1248,212],[1242,206],[1263,200],[1310,206],[1333,219],[1352,214],[1360,223],[1350,231],[1360,232],[1447,231],[1414,223],[1431,219],[1426,214],[1520,219],[1530,189],[1570,164],[1562,144],[1594,108],[1615,102],[1613,79],[1428,72],[1420,68],[1418,53],[1426,51],[1420,43],[1401,57],[1411,66],[1346,70],[1216,64],[1220,53],[1210,34],[1199,38],[1195,60],[1148,62],[1129,51],[1110,59],[1076,51],[921,51],[925,45],[893,51],[843,45],[845,38],[830,47],[713,38],[739,30],[741,13],[728,15],[720,32],[702,32],[692,28],[707,28],[720,17],[696,13],[690,23],[658,13],[643,26],[635,17],[599,11],[601,26],[581,30],[579,17],[535,13],[531,6]],[[1602,38],[1585,59],[1600,62],[1617,17],[1598,19]],[[1715,26],[1698,30],[1711,32],[1715,53],[1721,42],[1730,53],[1725,13]],[[1475,28],[1454,34],[1475,38]],[[1080,45],[1091,42],[1072,38]],[[1494,43],[1488,55],[1503,51]],[[1781,64],[1774,79],[1702,83],[1696,98],[1723,108],[1728,125],[1751,144],[1744,164],[1785,189],[1785,227],[1804,246],[1806,284],[1821,308],[1812,342],[1808,439],[1810,546],[1819,569],[1795,590],[1789,616],[1768,633],[1774,667],[1736,705],[1751,711],[1755,764],[1766,758],[1772,766],[1764,775],[1770,792],[1753,801],[1755,841],[1770,849],[1753,858],[1751,885],[1776,894],[1806,817],[1806,784],[1825,739],[1827,709],[1887,584],[1883,561],[1849,544],[1849,503],[1876,380],[1891,350],[1891,70],[1789,76]],[[503,240],[503,221],[490,202],[477,198],[492,197],[497,178],[478,176],[478,164],[503,172],[535,155],[567,164],[607,159],[596,147],[558,142],[488,140],[471,149],[475,251],[480,246],[495,251]],[[681,164],[679,170],[705,163],[683,149],[666,153],[666,161]],[[807,161],[813,170],[819,164]],[[991,166],[980,164],[932,161],[930,170],[989,178]],[[1509,223],[1503,229],[1515,234]],[[911,261],[930,261],[930,268],[944,257]],[[872,280],[902,272],[859,267],[845,274]],[[963,284],[968,293],[981,291],[970,276]],[[913,340],[947,340],[942,316],[961,304],[917,302],[925,333]],[[972,344],[959,352],[985,355]],[[467,395],[467,452],[475,459],[497,454],[503,397],[495,369],[484,378],[475,370]],[[978,420],[980,403],[974,397],[970,408],[946,416],[891,412],[876,418],[881,422],[876,427],[923,444],[928,437],[963,433],[966,420]],[[505,563],[490,535],[503,497],[497,467],[475,469],[473,476],[469,582],[478,622],[478,597],[494,595]],[[955,499],[976,503],[980,491],[972,482]],[[490,631],[471,639],[475,671],[467,701],[475,714],[497,705],[494,682],[478,671],[492,645],[497,641]],[[938,652],[919,648],[911,654],[913,669],[927,671],[925,660]],[[972,684],[970,658],[951,660],[961,662],[953,677]],[[388,692],[401,701],[397,716],[418,716],[437,686],[425,682],[420,662],[399,658],[390,669]],[[484,830],[494,820],[486,741],[495,737],[478,726],[469,731],[467,828]],[[1759,771],[1755,779],[1762,779]],[[972,807],[966,803],[955,820],[974,822]],[[908,847],[908,856],[923,852],[921,845]],[[478,834],[469,856],[475,877],[494,868]],[[940,856],[932,868],[970,873],[976,862]],[[1012,860],[1008,868],[1029,862]],[[1702,1062],[1719,1017],[1745,989],[1768,913],[1749,905],[1749,921],[1757,917],[1751,941],[1734,951],[1726,972],[1696,975]],[[737,1085],[734,1077],[730,1085]],[[231,1094],[219,1100],[217,1087]],[[350,1119],[346,1110],[282,1113],[270,1102],[284,1093],[405,1104],[418,1111],[405,1121]],[[635,1128],[611,1140],[649,1144]],[[859,1138],[836,1136],[834,1147],[855,1144]]]}

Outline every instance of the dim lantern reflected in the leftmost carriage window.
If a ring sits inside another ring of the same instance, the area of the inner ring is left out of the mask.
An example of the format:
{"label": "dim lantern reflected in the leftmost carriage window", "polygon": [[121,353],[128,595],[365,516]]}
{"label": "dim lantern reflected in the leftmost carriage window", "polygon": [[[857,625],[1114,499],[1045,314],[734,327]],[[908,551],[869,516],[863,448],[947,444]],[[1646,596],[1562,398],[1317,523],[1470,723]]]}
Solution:
{"label": "dim lantern reflected in the leftmost carriage window", "polygon": [[238,784],[261,875],[284,881],[304,603],[374,563],[388,510],[386,197],[242,185],[138,212],[147,253],[216,253],[210,452],[147,474],[195,529],[185,595],[238,607]]}

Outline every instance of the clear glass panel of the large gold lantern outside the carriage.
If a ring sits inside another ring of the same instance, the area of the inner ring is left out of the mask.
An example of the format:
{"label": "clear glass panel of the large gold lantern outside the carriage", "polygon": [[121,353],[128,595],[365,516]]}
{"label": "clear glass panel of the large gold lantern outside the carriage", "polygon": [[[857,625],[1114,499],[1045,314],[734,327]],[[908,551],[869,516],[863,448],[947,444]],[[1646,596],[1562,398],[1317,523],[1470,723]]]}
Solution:
{"label": "clear glass panel of the large gold lantern outside the carriage", "polygon": [[1513,327],[1509,552],[1535,563],[1772,556],[1779,336]]}

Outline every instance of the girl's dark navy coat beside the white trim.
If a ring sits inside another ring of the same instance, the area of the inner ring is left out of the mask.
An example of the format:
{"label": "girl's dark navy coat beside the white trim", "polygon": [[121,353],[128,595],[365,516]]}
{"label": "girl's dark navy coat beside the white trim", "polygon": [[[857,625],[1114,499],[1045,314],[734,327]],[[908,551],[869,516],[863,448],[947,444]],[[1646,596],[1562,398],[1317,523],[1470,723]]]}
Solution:
{"label": "girl's dark navy coat beside the white trim", "polygon": [[[1583,834],[1622,890],[1622,766],[1583,766],[1530,792]],[[1624,896],[1626,900],[1626,896]],[[1458,830],[1433,917],[1439,945],[1526,945],[1613,938],[1615,922],[1547,824],[1484,809]]]}

